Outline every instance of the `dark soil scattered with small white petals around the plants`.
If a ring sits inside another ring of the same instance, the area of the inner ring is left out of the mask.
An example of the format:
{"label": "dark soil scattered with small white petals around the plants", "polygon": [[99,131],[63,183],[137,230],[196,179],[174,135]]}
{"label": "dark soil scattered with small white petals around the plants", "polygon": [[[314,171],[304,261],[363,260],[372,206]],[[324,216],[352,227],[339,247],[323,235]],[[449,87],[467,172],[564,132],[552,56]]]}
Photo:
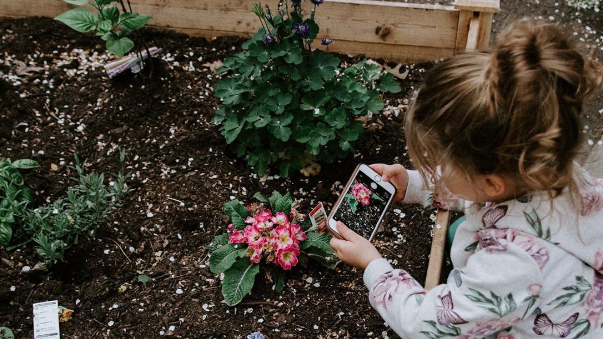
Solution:
{"label": "dark soil scattered with small white petals around the plants", "polygon": [[[601,46],[603,37],[595,39],[603,23],[594,13],[578,13],[578,23],[566,5],[502,1],[502,6],[494,31],[509,17],[555,16],[580,36],[589,34],[587,43]],[[582,28],[587,25],[591,33]],[[226,230],[222,204],[232,198],[251,202],[255,192],[289,191],[300,200],[301,212],[318,201],[328,211],[357,163],[409,165],[403,113],[430,64],[409,66],[400,81],[402,93],[385,98],[388,108],[368,125],[354,156],[323,164],[315,177],[282,179],[273,170],[259,178],[227,150],[210,122],[218,100],[209,65],[238,51],[241,39],[206,41],[143,30],[150,45],[163,48],[152,77],[124,74],[109,80],[102,65],[112,57],[99,39],[42,17],[6,19],[0,28],[0,159],[40,163],[24,171],[36,203],[65,196],[74,154],[87,159],[89,171],[109,175],[119,169],[119,147],[125,148],[134,173],[128,185],[135,189],[94,238],[83,236],[66,261],[48,271],[22,271],[40,261],[31,247],[0,250],[0,327],[31,338],[32,304],[58,300],[75,310],[61,324],[63,338],[245,338],[254,331],[268,338],[396,337],[370,307],[362,273],[344,265],[336,270],[314,262],[298,265],[280,294],[258,275],[252,293],[229,307],[222,302],[219,277],[209,271],[207,245]],[[17,76],[16,60],[43,70]],[[596,98],[586,112],[595,142],[601,139],[601,102]],[[434,211],[402,204],[391,211],[373,242],[396,267],[423,281]],[[142,285],[139,274],[153,280]]]}

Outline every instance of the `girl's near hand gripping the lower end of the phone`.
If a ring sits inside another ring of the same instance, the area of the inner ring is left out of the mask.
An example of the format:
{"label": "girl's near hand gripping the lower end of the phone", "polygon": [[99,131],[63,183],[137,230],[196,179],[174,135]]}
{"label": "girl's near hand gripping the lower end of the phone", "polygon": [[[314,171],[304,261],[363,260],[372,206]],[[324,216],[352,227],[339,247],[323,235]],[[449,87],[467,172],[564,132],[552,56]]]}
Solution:
{"label": "girl's near hand gripping the lower end of the phone", "polygon": [[337,232],[345,239],[331,238],[330,245],[341,261],[364,270],[374,259],[381,258],[379,251],[367,238],[349,229],[341,221],[337,221]]}

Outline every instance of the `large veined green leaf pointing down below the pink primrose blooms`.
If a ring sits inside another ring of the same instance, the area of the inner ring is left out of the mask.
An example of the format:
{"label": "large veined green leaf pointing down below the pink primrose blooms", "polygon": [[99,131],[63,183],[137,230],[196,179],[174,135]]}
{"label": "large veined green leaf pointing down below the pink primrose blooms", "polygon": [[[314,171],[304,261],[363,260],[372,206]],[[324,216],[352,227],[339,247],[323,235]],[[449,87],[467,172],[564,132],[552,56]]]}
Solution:
{"label": "large veined green leaf pointing down below the pink primrose blooms", "polygon": [[235,306],[247,293],[251,292],[259,270],[259,265],[253,264],[248,257],[244,257],[224,271],[222,295],[226,300],[226,305]]}

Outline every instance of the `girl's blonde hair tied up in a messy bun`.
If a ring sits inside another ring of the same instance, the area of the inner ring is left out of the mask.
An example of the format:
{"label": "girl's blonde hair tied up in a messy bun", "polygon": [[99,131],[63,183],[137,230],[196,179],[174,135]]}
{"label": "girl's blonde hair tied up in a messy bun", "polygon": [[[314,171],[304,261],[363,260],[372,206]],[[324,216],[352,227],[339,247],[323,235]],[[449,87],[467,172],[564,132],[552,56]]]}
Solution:
{"label": "girl's blonde hair tied up in a messy bun", "polygon": [[555,197],[574,185],[582,103],[602,69],[556,25],[517,21],[491,51],[455,55],[426,75],[406,117],[409,155],[425,180],[453,164]]}

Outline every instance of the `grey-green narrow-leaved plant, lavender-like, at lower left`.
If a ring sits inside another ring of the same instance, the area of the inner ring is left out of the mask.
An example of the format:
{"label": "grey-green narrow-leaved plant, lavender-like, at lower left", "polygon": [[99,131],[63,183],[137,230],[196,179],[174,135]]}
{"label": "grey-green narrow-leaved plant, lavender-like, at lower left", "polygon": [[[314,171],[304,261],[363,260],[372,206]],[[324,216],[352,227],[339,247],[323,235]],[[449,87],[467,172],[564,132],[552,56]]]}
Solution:
{"label": "grey-green narrow-leaved plant, lavender-like, at lower left", "polygon": [[93,235],[96,227],[113,208],[119,207],[119,200],[131,191],[125,183],[125,153],[120,150],[120,173],[106,184],[104,175],[86,174],[85,163],[75,156],[75,166],[79,185],[68,188],[67,197],[36,209],[16,209],[20,224],[14,229],[13,244],[7,250],[35,242],[37,254],[46,265],[65,260],[65,250],[77,244],[82,232]]}

